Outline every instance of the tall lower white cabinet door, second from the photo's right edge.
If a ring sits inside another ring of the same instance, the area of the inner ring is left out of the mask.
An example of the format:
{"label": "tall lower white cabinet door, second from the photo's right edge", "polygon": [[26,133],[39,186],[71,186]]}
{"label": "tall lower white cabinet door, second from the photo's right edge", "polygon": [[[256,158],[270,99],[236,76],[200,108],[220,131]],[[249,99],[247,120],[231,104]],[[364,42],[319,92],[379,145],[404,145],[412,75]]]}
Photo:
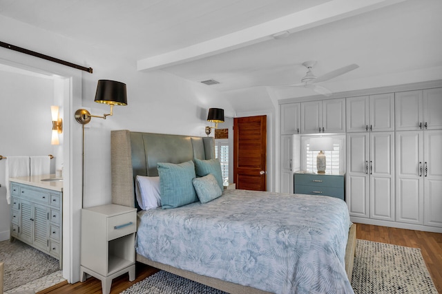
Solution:
{"label": "tall lower white cabinet door, second from the photo's right edge", "polygon": [[396,132],[396,221],[423,224],[423,132]]}

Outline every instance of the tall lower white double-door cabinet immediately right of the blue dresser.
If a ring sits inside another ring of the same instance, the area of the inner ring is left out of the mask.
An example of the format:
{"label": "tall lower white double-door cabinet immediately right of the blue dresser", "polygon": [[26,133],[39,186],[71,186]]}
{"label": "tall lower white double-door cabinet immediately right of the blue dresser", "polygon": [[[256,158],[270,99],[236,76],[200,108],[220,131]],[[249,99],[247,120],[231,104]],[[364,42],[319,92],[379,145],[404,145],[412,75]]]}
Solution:
{"label": "tall lower white double-door cabinet immediately right of the blue dresser", "polygon": [[347,135],[350,216],[394,220],[394,132]]}

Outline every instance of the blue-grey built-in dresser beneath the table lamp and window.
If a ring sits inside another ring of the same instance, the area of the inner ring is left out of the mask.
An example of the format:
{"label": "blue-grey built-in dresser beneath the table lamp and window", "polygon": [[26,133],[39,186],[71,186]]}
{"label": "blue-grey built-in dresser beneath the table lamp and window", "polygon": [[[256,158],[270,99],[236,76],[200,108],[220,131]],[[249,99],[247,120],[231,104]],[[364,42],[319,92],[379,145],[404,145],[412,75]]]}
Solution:
{"label": "blue-grey built-in dresser beneath the table lamp and window", "polygon": [[295,173],[295,193],[332,196],[345,200],[344,174]]}

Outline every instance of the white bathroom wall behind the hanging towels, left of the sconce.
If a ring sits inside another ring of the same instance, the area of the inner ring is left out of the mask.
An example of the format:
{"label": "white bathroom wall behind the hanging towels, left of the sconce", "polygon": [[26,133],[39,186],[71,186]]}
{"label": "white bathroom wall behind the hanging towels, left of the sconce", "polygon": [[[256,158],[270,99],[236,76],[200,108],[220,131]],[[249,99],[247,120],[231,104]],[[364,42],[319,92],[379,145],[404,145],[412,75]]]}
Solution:
{"label": "white bathroom wall behind the hanging towels, left of the sconce", "polygon": [[[55,81],[35,75],[0,70],[0,155],[55,155],[50,145],[52,122],[50,105],[55,105]],[[6,202],[6,160],[0,160],[0,241],[9,239],[9,206]]]}

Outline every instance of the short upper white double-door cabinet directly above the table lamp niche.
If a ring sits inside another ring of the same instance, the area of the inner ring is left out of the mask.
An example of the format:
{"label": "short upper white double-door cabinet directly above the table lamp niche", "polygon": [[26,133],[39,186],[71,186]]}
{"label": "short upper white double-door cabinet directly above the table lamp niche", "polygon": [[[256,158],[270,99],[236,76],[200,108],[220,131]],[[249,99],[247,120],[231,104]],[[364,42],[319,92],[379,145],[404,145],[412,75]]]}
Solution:
{"label": "short upper white double-door cabinet directly above the table lamp niche", "polygon": [[345,98],[300,104],[302,134],[345,132]]}

